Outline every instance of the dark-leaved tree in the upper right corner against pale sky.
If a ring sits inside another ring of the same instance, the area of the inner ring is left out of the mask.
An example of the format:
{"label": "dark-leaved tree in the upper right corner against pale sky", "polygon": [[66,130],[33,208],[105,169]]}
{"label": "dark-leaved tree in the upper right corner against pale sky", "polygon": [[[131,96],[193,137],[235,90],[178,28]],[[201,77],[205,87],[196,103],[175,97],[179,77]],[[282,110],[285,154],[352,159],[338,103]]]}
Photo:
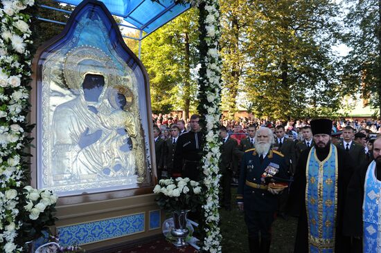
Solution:
{"label": "dark-leaved tree in the upper right corner against pale sky", "polygon": [[351,48],[344,59],[343,83],[348,94],[362,93],[381,117],[381,1],[346,1],[343,41]]}

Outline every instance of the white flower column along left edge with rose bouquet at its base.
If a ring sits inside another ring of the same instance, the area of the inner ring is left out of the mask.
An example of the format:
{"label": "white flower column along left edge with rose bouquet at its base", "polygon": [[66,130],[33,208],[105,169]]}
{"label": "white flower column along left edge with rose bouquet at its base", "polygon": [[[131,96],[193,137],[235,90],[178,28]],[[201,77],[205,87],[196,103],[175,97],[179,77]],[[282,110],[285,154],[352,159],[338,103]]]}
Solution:
{"label": "white flower column along left edge with rose bouquet at its base", "polygon": [[30,16],[24,13],[34,0],[0,1],[0,252],[21,252],[28,239],[53,225],[57,197],[28,185],[33,126],[29,111]]}

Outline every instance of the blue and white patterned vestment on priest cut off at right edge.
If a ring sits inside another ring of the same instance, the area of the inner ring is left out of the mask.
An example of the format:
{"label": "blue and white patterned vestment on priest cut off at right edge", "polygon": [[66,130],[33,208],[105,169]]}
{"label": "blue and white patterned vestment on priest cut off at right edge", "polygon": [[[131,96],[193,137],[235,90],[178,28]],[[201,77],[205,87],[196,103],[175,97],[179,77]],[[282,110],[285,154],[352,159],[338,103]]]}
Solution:
{"label": "blue and white patterned vestment on priest cut off at right edge", "polygon": [[366,171],[364,182],[364,203],[362,221],[364,222],[364,253],[381,252],[380,236],[380,196],[381,182],[375,177],[375,161]]}

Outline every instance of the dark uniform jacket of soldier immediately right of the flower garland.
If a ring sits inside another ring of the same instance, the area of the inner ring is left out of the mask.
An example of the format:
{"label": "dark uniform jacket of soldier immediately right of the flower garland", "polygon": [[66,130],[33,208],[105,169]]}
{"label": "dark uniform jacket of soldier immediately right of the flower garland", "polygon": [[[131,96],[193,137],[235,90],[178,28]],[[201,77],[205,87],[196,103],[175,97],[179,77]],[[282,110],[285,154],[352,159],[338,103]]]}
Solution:
{"label": "dark uniform jacket of soldier immediately right of the flower garland", "polygon": [[221,146],[220,171],[222,174],[227,171],[238,171],[238,142],[229,137]]}

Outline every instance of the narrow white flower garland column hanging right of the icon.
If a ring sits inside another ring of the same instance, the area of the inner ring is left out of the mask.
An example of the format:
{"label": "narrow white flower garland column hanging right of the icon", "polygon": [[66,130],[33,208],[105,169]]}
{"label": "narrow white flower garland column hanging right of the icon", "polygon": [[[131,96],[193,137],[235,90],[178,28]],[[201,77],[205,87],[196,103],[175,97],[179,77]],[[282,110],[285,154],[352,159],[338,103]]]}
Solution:
{"label": "narrow white flower garland column hanging right of the icon", "polygon": [[[218,191],[220,185],[220,169],[218,162],[220,160],[220,145],[218,128],[220,126],[220,79],[221,79],[221,61],[218,50],[218,41],[220,39],[220,11],[218,0],[188,0],[193,6],[199,6],[205,3],[207,12],[204,20],[206,37],[204,40],[207,45],[207,55],[201,55],[206,64],[206,77],[201,77],[205,86],[209,87],[205,91],[206,100],[209,104],[204,104],[206,110],[206,143],[202,158],[202,169],[204,171],[204,186],[206,187],[206,204],[202,206],[206,222],[206,237],[202,243],[203,252],[222,252],[220,234],[220,214],[218,213]],[[201,24],[200,24],[201,25]],[[202,91],[204,92],[204,91]]]}

